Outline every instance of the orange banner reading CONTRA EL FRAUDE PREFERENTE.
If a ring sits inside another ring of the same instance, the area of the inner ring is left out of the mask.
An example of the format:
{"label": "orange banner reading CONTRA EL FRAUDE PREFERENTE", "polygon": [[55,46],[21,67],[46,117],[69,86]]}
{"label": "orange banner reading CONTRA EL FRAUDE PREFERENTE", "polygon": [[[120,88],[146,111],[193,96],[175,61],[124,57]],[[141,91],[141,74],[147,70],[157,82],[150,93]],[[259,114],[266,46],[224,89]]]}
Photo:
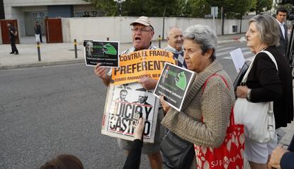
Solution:
{"label": "orange banner reading CONTRA EL FRAUDE PREFERENTE", "polygon": [[165,62],[175,64],[173,53],[161,49],[120,55],[119,67],[112,69],[111,79],[114,85],[138,82],[142,77],[158,80]]}

